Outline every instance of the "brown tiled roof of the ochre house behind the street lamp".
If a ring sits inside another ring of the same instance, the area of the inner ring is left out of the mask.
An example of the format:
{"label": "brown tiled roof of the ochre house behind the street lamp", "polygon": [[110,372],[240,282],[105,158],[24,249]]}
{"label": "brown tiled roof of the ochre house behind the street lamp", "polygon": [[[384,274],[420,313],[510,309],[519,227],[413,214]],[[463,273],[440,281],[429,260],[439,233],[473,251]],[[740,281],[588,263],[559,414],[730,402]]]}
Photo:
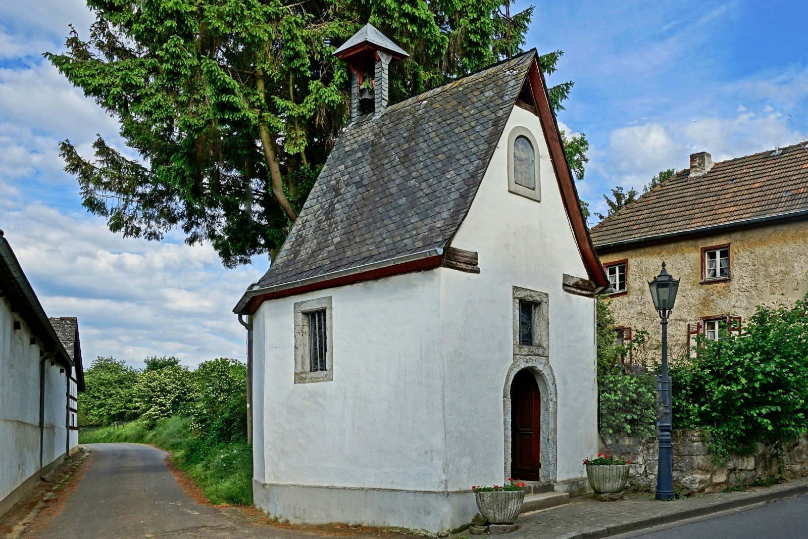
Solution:
{"label": "brown tiled roof of the ochre house behind the street lamp", "polygon": [[591,229],[595,247],[685,234],[711,225],[808,210],[808,151],[802,145],[717,162],[705,175],[688,169]]}

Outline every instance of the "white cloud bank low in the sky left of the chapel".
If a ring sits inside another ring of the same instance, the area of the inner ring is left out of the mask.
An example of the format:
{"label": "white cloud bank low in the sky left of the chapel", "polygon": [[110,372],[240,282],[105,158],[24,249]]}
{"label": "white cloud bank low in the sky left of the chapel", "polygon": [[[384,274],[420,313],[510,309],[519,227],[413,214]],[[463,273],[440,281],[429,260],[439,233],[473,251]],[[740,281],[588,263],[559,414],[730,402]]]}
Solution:
{"label": "white cloud bank low in the sky left of the chapel", "polygon": [[78,317],[88,362],[244,360],[231,310],[259,268],[225,270],[210,246],[120,238],[97,219],[38,204],[4,213],[2,226],[48,315]]}

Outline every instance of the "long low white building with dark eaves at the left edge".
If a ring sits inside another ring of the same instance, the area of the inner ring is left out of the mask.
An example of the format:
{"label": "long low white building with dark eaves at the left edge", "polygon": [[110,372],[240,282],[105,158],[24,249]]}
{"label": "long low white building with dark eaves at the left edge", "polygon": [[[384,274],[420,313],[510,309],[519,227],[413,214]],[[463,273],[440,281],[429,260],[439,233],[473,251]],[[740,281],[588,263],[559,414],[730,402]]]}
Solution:
{"label": "long low white building with dark eaves at the left edge", "polygon": [[77,366],[0,231],[0,515],[69,453]]}

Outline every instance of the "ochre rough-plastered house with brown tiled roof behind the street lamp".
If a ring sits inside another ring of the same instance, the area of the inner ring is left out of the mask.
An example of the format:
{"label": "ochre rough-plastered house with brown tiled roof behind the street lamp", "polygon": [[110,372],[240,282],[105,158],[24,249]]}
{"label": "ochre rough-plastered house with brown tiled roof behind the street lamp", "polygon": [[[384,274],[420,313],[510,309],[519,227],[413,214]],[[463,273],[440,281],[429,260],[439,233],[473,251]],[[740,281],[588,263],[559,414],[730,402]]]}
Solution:
{"label": "ochre rough-plastered house with brown tiled roof behind the street lamp", "polygon": [[[738,331],[755,305],[808,291],[808,150],[793,145],[690,168],[591,229],[612,281],[621,339],[659,338],[648,281],[667,263],[681,284],[668,326],[674,352],[696,335]],[[692,349],[690,351],[692,353]]]}

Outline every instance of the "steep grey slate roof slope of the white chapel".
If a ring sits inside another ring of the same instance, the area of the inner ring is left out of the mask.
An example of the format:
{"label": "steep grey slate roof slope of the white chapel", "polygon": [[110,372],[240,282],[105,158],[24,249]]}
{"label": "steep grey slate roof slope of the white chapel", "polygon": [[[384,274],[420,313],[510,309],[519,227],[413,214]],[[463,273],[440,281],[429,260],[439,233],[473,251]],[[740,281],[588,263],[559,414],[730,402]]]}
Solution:
{"label": "steep grey slate roof slope of the white chapel", "polygon": [[350,124],[259,285],[446,246],[477,192],[535,54]]}

